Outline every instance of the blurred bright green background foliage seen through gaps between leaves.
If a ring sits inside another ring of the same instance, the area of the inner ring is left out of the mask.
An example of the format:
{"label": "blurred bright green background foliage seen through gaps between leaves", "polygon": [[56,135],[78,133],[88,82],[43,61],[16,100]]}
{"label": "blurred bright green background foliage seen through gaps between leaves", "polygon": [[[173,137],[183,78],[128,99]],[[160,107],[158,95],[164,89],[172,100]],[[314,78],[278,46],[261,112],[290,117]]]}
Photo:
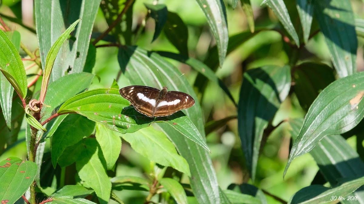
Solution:
{"label": "blurred bright green background foliage seen through gaps between leaves", "polygon": [[[12,21],[15,20],[4,17],[6,15],[17,18],[17,20],[23,22],[24,25],[35,28],[32,10],[33,6],[32,3],[29,2],[2,0],[0,13],[12,30],[18,30],[21,33],[21,41],[25,46],[30,50],[36,50],[38,44],[35,33],[24,28],[24,26],[13,23]],[[145,23],[145,28],[140,31],[139,36],[136,39],[132,39],[135,40],[134,44],[147,50],[177,53],[178,50],[170,43],[164,32],[162,32],[155,41],[151,42],[155,25],[154,20],[151,18],[145,21],[147,9],[144,3],[152,3],[152,1],[137,0],[133,7],[132,30],[135,30],[137,26]],[[181,17],[188,28],[187,48],[189,56],[204,61],[209,49],[215,42],[209,26],[206,23],[206,17],[198,4],[194,0],[159,0],[158,3],[165,4],[168,11],[175,12]],[[258,30],[258,28],[276,27],[278,24],[277,17],[268,7],[261,7],[261,3],[261,0],[251,0],[256,30]],[[240,6],[240,3],[236,9],[232,9],[231,4],[232,2],[230,0],[225,1],[229,35],[233,36],[240,32],[249,32],[246,15]],[[351,4],[355,15],[361,18],[364,17],[363,2],[360,0],[351,0]],[[102,10],[99,9],[93,32],[101,33],[107,29],[107,27],[104,14]],[[364,41],[360,36],[358,40],[357,69],[360,71],[364,70]],[[223,66],[217,69],[216,74],[229,88],[235,101],[238,101],[243,72],[264,65],[283,66],[288,64],[290,59],[285,46],[288,45],[284,42],[282,35],[279,32],[268,29],[258,32],[238,48],[234,49],[232,53],[227,55]],[[311,60],[314,59],[317,62],[327,64],[328,68],[333,71],[330,54],[322,33],[317,33],[314,37],[310,38],[302,49],[304,49],[305,53],[305,58],[300,59],[302,62],[308,58]],[[21,56],[26,56],[22,50],[20,50],[20,53]],[[98,77],[94,78],[89,89],[111,86],[120,70],[117,53],[117,47],[110,46],[97,48],[95,66],[92,73]],[[191,84],[194,83],[194,79],[198,74],[195,70],[177,61],[168,58],[166,59],[177,66],[182,73],[185,73]],[[124,87],[129,85],[129,83],[126,78],[121,76],[118,80],[118,85]],[[282,119],[303,118],[305,116],[308,107],[300,104],[297,97],[299,96],[294,93],[289,94],[285,101],[282,102],[280,109],[272,121],[272,125],[278,125]],[[212,120],[218,121],[219,119],[235,116],[237,114],[236,106],[216,83],[208,83],[201,101],[204,114],[203,117],[206,122]],[[22,124],[24,126],[26,124],[25,121],[23,121]],[[305,154],[294,160],[285,179],[282,179],[289,155],[289,131],[289,125],[285,123],[274,129],[269,135],[258,160],[255,185],[258,188],[263,189],[266,194],[272,195],[267,196],[268,203],[280,203],[274,199],[273,196],[288,201],[293,193],[310,185],[318,172],[318,167],[312,157],[309,154]],[[8,151],[5,151],[0,155],[0,160],[6,159],[9,156],[18,156],[25,159],[27,149],[24,137],[25,127],[21,128],[19,132],[18,142],[13,144],[13,148],[8,148]],[[211,159],[217,174],[219,186],[222,189],[226,189],[232,183],[252,183],[249,179],[246,166],[244,165],[244,156],[241,150],[240,138],[238,136],[237,119],[231,119],[226,125],[218,128],[216,131],[212,131],[206,137],[212,152]],[[355,139],[349,138],[348,142],[355,148]],[[134,152],[127,142],[123,141],[116,175],[143,177],[145,174],[148,174],[149,171],[149,160]],[[143,202],[145,196],[148,195],[147,192],[128,190],[117,192],[117,194],[119,197],[124,198],[125,203]],[[189,199],[191,199],[189,201],[193,203],[193,198],[189,197]]]}

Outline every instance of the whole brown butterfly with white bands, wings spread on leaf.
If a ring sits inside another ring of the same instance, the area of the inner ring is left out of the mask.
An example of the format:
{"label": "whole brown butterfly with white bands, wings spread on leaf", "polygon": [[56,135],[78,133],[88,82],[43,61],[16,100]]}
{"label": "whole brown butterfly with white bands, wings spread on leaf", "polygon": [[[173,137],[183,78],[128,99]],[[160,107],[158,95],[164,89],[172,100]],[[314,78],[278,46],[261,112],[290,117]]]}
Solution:
{"label": "whole brown butterfly with white bands, wings spread on leaf", "polygon": [[168,91],[167,86],[162,90],[149,86],[127,86],[120,89],[119,93],[130,101],[135,110],[148,117],[169,116],[195,104],[189,94]]}

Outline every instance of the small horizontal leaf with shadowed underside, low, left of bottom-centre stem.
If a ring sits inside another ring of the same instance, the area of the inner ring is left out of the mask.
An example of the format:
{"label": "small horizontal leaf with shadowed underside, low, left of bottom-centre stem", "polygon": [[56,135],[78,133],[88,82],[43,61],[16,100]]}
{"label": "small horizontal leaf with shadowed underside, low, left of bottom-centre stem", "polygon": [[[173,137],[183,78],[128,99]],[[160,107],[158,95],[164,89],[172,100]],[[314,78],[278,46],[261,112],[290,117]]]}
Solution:
{"label": "small horizontal leaf with shadowed underside, low, left of bottom-centre stem", "polygon": [[149,191],[149,183],[146,179],[137,176],[116,176],[110,179],[112,189],[116,191],[137,190]]}

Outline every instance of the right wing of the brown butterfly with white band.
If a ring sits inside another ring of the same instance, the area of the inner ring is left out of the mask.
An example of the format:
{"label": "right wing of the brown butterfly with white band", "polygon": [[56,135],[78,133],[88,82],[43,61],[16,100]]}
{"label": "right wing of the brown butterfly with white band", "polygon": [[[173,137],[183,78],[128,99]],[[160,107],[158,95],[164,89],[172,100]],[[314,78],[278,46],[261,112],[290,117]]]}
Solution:
{"label": "right wing of the brown butterfly with white band", "polygon": [[180,91],[168,91],[163,101],[157,104],[154,117],[168,116],[175,112],[187,109],[195,104],[195,100]]}

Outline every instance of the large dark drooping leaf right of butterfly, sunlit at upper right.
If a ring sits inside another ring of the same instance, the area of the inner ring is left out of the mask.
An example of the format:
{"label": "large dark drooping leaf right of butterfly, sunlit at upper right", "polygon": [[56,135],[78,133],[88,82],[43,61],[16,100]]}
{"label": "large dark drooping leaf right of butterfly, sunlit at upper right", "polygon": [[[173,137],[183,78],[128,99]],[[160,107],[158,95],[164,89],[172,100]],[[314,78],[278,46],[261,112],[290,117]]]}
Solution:
{"label": "large dark drooping leaf right of butterfly, sunlit at upper right", "polygon": [[244,73],[238,103],[238,131],[253,182],[264,129],[287,97],[290,84],[287,65],[264,66]]}

